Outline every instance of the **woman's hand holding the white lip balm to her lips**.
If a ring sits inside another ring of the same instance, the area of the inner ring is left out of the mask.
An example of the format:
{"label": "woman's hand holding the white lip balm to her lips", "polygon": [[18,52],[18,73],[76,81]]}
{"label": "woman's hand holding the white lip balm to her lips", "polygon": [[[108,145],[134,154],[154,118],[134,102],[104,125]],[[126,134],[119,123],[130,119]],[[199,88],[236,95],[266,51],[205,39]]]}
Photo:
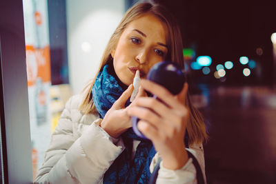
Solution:
{"label": "woman's hand holding the white lip balm to her lips", "polygon": [[[103,121],[101,121],[101,127],[105,130],[110,136],[118,138],[122,133],[128,130],[129,127],[132,127],[130,116],[127,113],[128,108],[131,107],[132,103],[125,108],[126,101],[130,98],[130,95],[133,91],[133,85],[129,85],[128,89],[121,94],[119,99],[113,103],[112,107],[106,116],[104,116]],[[139,89],[139,92],[136,97],[145,95],[142,89]],[[136,100],[137,98],[135,98]],[[135,101],[134,100],[134,101]]]}

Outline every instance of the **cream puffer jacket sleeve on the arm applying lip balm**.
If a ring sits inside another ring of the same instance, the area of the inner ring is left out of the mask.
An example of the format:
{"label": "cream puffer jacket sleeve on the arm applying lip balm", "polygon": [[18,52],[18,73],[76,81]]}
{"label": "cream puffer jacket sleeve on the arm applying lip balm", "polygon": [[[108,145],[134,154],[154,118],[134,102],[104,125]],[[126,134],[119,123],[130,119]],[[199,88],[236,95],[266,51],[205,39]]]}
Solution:
{"label": "cream puffer jacket sleeve on the arm applying lip balm", "polygon": [[[43,165],[34,183],[102,183],[103,174],[124,150],[101,127],[97,119],[79,137],[73,135],[72,97],[66,103]],[[74,112],[75,113],[75,112]]]}

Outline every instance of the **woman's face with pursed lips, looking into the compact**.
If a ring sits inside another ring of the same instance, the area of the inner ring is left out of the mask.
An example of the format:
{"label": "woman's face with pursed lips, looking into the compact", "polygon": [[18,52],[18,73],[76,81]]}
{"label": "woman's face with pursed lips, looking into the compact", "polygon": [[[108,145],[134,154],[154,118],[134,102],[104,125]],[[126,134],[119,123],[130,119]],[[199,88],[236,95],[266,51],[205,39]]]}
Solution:
{"label": "woman's face with pursed lips, looking into the compact", "polygon": [[168,52],[167,28],[152,14],[131,21],[112,50],[115,72],[122,83],[130,85],[139,70],[141,78],[155,63],[163,61]]}

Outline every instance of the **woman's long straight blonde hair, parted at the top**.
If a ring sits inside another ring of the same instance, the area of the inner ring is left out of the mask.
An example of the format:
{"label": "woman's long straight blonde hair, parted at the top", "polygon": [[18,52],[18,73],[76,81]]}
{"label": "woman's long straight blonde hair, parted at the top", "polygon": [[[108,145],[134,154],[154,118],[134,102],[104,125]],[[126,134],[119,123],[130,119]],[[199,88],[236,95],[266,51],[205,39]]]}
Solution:
{"label": "woman's long straight blonde hair, parted at the top", "polygon": [[[125,28],[131,21],[142,17],[144,14],[153,14],[160,21],[164,22],[168,28],[168,35],[166,38],[166,44],[168,45],[168,54],[166,55],[166,60],[173,61],[184,68],[184,57],[182,52],[182,39],[181,39],[181,31],[177,24],[177,21],[174,17],[160,4],[156,3],[137,3],[135,6],[132,6],[123,19],[117,26],[115,32],[110,37],[108,41],[108,45],[106,46],[106,50],[103,52],[103,57],[101,58],[101,63],[99,65],[99,69],[97,74],[102,70],[103,66],[108,63],[108,61],[112,61],[111,52],[116,48],[116,45],[121,37],[122,32],[124,32]],[[96,74],[96,76],[97,76]],[[96,77],[95,77],[96,79]],[[91,81],[91,83],[85,89],[85,98],[79,110],[81,110],[84,114],[95,113],[97,109],[95,108],[95,104],[92,99],[92,87],[95,83],[95,79]],[[206,128],[204,119],[201,116],[201,113],[193,106],[190,101],[190,96],[188,94],[186,105],[190,110],[190,118],[188,124],[186,126],[188,136],[189,136],[189,145],[193,145],[193,143],[203,143],[208,139],[206,134]]]}

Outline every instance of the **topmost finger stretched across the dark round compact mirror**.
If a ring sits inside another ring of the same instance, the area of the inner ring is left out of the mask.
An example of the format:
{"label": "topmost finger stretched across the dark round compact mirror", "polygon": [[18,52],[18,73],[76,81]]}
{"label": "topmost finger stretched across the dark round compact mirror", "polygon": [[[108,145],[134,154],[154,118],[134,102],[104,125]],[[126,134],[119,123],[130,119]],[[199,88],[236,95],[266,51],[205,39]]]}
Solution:
{"label": "topmost finger stretched across the dark round compact mirror", "polygon": [[184,108],[183,105],[179,103],[178,99],[175,99],[175,97],[163,86],[144,79],[141,80],[140,85],[145,90],[158,96],[158,98],[166,103],[166,105],[168,105],[170,108],[176,108],[179,110]]}

